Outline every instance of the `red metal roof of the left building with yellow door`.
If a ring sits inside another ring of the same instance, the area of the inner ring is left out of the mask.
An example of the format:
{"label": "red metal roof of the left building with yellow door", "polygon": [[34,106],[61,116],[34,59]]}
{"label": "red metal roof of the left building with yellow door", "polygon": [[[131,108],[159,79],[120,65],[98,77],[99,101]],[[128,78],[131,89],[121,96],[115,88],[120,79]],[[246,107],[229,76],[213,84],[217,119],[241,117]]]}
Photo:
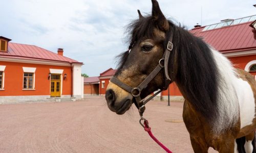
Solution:
{"label": "red metal roof of the left building with yellow door", "polygon": [[8,52],[0,52],[0,57],[15,58],[15,59],[30,59],[30,60],[47,60],[47,61],[59,61],[69,63],[80,63],[76,60],[60,56],[44,48],[19,44],[19,43],[8,43]]}

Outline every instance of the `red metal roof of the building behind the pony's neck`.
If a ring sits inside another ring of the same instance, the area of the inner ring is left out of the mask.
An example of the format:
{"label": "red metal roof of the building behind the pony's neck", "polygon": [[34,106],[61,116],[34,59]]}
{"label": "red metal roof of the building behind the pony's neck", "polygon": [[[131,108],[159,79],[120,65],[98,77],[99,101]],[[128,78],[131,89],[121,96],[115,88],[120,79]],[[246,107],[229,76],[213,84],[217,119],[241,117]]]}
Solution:
{"label": "red metal roof of the building behind the pony's neck", "polygon": [[256,49],[256,40],[249,26],[251,23],[246,22],[207,31],[202,31],[204,27],[200,27],[189,32],[202,37],[204,41],[222,53],[240,52]]}

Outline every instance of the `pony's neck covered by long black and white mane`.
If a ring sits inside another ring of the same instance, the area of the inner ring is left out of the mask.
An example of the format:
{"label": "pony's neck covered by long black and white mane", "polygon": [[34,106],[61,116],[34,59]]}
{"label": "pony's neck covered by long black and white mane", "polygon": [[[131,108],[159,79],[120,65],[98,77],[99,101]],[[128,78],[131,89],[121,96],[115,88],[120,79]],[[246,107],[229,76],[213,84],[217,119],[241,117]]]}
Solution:
{"label": "pony's neck covered by long black and white mane", "polygon": [[172,68],[177,68],[175,82],[184,98],[218,134],[238,118],[233,67],[222,54],[182,28],[175,30],[174,38],[177,53],[170,61],[175,61]]}

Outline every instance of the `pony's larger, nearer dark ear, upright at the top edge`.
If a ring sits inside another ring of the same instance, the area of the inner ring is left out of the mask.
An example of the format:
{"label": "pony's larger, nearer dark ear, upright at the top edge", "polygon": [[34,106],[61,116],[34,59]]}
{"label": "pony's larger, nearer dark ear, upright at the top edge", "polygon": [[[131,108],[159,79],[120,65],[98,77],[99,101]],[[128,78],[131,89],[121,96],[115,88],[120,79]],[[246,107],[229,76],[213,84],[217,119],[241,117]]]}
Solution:
{"label": "pony's larger, nearer dark ear, upright at the top edge", "polygon": [[160,30],[168,31],[169,23],[164,17],[156,0],[152,0],[152,16],[157,20],[157,25]]}

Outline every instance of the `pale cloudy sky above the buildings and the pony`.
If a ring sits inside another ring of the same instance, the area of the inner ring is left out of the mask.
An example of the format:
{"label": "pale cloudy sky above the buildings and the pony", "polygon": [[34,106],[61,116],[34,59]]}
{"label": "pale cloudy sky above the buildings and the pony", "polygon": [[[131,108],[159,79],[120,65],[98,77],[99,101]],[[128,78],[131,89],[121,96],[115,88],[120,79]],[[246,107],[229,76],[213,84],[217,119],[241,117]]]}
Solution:
{"label": "pale cloudy sky above the buildings and the pony", "polygon": [[[4,1],[4,0],[1,0]],[[255,0],[159,0],[168,19],[192,29],[223,19],[255,15]],[[36,45],[82,62],[82,73],[99,76],[116,68],[115,57],[124,52],[125,26],[151,14],[150,0],[9,0],[1,3],[0,36],[11,42]],[[201,13],[202,12],[202,13]]]}

